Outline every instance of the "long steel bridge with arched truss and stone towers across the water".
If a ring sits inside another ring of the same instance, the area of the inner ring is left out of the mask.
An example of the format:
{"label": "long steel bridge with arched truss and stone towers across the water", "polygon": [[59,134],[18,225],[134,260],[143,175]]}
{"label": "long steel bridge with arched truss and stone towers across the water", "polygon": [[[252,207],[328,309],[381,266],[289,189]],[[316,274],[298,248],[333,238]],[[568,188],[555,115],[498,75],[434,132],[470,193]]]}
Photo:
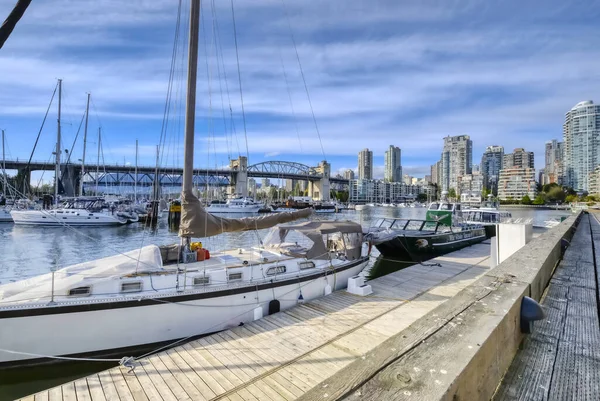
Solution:
{"label": "long steel bridge with arched truss and stone towers across the water", "polygon": [[[30,182],[32,171],[54,171],[55,164],[50,161],[6,160],[7,170],[17,170],[22,181]],[[98,174],[97,174],[98,172]],[[131,165],[85,165],[84,185],[90,187],[96,180],[99,185],[137,185],[152,186],[155,182],[155,166]],[[349,180],[330,177],[331,166],[326,161],[316,167],[302,163],[286,161],[267,161],[248,166],[247,158],[240,156],[231,160],[227,169],[200,168],[194,170],[194,183],[197,186],[226,186],[230,193],[246,196],[248,194],[248,178],[285,179],[307,181],[308,194],[314,199],[329,200],[330,184],[348,186]],[[81,180],[81,164],[65,163],[61,165],[61,185],[67,196],[74,196]],[[163,186],[180,187],[183,169],[179,167],[159,168],[158,182]],[[22,188],[22,184],[19,186]]]}

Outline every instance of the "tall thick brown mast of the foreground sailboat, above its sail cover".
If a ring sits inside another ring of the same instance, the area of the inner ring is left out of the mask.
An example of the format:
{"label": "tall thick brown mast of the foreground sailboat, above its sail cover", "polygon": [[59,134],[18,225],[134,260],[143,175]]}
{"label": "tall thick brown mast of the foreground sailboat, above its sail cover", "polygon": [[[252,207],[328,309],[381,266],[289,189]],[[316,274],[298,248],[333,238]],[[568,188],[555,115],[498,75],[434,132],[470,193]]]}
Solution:
{"label": "tall thick brown mast of the foreground sailboat, above its sail cover", "polygon": [[198,69],[198,33],[200,0],[190,1],[190,37],[188,49],[187,96],[185,102],[185,142],[182,192],[192,193],[194,170],[194,123],[196,119],[196,79]]}

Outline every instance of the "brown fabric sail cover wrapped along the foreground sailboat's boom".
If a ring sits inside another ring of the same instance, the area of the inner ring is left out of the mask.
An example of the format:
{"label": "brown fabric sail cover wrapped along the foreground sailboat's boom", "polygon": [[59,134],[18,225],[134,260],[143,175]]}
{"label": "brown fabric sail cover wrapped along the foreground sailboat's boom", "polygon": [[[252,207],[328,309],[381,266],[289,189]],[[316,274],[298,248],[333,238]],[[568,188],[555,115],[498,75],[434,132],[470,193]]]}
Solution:
{"label": "brown fabric sail cover wrapped along the foreground sailboat's boom", "polygon": [[192,191],[183,191],[181,193],[179,236],[206,238],[232,231],[260,230],[309,217],[312,212],[312,209],[301,209],[260,217],[244,217],[239,219],[218,217],[208,213]]}

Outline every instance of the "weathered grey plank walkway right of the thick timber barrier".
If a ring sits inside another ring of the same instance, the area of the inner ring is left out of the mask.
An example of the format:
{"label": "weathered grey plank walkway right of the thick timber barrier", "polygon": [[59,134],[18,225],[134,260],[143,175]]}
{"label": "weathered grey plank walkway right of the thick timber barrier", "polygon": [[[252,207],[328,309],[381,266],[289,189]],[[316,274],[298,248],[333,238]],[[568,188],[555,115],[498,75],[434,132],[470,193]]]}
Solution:
{"label": "weathered grey plank walkway right of the thick timber barrier", "polygon": [[543,306],[494,400],[599,400],[600,223],[584,215],[556,269]]}

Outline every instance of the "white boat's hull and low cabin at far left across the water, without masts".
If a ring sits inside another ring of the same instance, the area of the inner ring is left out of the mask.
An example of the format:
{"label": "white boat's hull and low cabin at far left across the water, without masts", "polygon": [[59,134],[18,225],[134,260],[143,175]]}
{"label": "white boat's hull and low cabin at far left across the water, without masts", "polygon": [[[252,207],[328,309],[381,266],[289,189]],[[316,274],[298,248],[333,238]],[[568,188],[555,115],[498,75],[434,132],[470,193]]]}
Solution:
{"label": "white boat's hull and low cabin at far left across the water, without masts", "polygon": [[100,197],[75,198],[52,210],[13,209],[10,214],[18,225],[114,226],[138,221],[136,213],[106,209]]}

